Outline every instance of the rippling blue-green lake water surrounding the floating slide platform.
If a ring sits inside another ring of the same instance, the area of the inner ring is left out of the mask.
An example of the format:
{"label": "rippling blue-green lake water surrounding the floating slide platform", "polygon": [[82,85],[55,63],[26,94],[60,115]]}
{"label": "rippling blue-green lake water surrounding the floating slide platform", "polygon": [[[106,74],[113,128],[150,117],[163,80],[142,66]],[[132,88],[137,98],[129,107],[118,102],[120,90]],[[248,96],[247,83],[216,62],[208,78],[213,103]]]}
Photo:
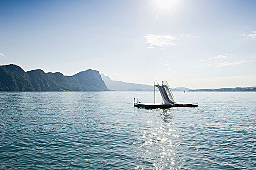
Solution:
{"label": "rippling blue-green lake water surrounding the floating slide platform", "polygon": [[[0,92],[0,169],[256,169],[256,92]],[[161,102],[157,95],[157,102]]]}

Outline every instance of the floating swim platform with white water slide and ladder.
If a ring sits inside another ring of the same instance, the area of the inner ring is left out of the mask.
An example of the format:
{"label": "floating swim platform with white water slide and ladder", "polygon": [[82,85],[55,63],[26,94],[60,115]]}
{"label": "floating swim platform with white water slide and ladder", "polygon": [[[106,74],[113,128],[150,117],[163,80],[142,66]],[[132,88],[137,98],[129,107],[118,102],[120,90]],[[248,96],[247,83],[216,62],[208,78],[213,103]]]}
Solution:
{"label": "floating swim platform with white water slide and ladder", "polygon": [[[159,89],[163,98],[163,103],[156,103],[156,87]],[[177,103],[174,101],[174,96],[167,81],[162,81],[162,85],[159,85],[157,81],[154,82],[154,103],[141,103],[139,98],[137,102],[133,102],[134,107],[142,107],[146,109],[156,108],[170,108],[170,107],[198,107],[198,103]]]}

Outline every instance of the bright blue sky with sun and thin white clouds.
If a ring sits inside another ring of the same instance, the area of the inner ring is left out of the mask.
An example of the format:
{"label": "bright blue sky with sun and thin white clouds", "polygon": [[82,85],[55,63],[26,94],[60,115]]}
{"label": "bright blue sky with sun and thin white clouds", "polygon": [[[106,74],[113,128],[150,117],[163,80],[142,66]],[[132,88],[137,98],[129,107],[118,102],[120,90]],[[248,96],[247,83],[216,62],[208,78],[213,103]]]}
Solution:
{"label": "bright blue sky with sun and thin white clouds", "polygon": [[256,86],[256,0],[1,0],[0,65],[170,87]]}

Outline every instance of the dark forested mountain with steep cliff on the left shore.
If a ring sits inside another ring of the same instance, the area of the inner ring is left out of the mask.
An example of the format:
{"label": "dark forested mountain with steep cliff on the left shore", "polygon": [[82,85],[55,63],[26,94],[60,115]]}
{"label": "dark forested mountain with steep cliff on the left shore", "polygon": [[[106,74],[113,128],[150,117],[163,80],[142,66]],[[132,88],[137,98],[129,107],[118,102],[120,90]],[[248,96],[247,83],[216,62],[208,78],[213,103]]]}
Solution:
{"label": "dark forested mountain with steep cliff on the left shore", "polygon": [[36,69],[25,72],[16,65],[0,66],[0,91],[110,91],[98,71],[88,69],[73,76],[45,73]]}

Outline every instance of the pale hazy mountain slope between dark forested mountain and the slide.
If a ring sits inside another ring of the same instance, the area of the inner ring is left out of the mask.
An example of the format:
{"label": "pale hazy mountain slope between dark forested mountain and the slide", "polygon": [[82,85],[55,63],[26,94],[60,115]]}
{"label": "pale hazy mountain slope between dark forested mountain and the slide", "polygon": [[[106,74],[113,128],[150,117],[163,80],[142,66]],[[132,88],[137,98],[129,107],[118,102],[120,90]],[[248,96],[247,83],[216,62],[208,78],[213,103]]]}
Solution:
{"label": "pale hazy mountain slope between dark forested mountain and the slide", "polygon": [[107,87],[115,91],[154,91],[152,85],[141,85],[135,83],[126,83],[122,81],[111,80],[110,77],[101,74],[101,78],[104,80]]}

